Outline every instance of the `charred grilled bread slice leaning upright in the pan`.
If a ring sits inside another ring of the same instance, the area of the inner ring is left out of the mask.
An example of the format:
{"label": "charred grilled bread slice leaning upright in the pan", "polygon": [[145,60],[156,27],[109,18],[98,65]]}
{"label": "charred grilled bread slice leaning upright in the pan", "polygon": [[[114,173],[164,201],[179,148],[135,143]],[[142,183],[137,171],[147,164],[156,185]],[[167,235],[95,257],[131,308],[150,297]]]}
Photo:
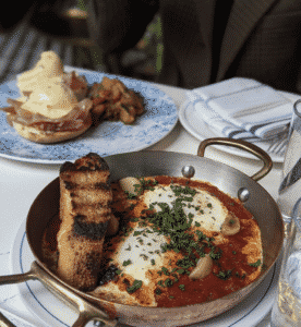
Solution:
{"label": "charred grilled bread slice leaning upright in the pan", "polygon": [[105,234],[112,217],[107,162],[96,154],[60,169],[59,276],[87,290],[97,284]]}

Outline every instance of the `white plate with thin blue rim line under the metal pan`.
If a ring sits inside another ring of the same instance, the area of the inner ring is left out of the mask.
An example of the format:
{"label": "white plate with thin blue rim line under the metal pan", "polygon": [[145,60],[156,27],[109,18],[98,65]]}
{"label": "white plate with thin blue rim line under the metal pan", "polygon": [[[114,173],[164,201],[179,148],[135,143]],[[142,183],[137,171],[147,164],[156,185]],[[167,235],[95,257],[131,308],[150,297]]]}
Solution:
{"label": "white plate with thin blue rim line under the metal pan", "polygon": [[[12,274],[28,271],[34,256],[27,243],[25,221],[16,234],[11,253]],[[276,264],[261,286],[239,305],[216,318],[191,325],[191,327],[256,326],[272,308],[277,290],[279,266],[279,264]],[[17,286],[26,307],[38,320],[41,319],[45,326],[67,327],[72,326],[75,322],[77,317],[76,312],[56,299],[40,282],[28,281]],[[87,326],[97,325],[89,323]],[[123,324],[119,324],[118,326],[125,327]]]}

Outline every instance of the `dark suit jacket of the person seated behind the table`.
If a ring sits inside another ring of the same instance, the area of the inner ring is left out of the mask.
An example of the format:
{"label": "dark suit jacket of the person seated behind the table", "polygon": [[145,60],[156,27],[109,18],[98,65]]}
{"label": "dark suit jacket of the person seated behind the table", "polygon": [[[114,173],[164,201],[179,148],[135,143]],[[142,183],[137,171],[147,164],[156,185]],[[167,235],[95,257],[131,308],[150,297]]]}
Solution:
{"label": "dark suit jacket of the person seated behind the table", "polygon": [[106,53],[122,52],[137,43],[159,10],[164,29],[159,82],[194,88],[245,76],[301,93],[301,0],[236,0],[213,80],[216,2],[91,0],[91,31]]}

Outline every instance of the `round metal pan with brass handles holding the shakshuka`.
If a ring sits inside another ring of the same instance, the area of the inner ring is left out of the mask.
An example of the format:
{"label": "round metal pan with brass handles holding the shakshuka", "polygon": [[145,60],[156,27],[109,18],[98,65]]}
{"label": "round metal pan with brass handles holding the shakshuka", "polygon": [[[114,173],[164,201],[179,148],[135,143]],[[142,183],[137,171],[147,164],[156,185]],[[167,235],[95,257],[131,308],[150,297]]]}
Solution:
{"label": "round metal pan with brass handles holding the shakshuka", "polygon": [[[227,165],[205,158],[209,145],[234,146],[246,150],[263,162],[263,168],[253,177]],[[229,138],[209,138],[200,144],[197,156],[142,150],[106,157],[112,181],[129,175],[194,177],[208,181],[225,193],[239,197],[254,215],[262,232],[264,266],[261,276],[248,287],[212,302],[181,307],[143,307],[104,301],[81,292],[60,280],[44,264],[40,240],[48,221],[59,210],[59,179],[48,184],[33,203],[26,221],[26,233],[31,250],[36,258],[31,271],[17,276],[0,277],[1,283],[39,279],[51,292],[75,305],[80,312],[73,326],[85,326],[91,319],[100,319],[108,326],[117,322],[130,326],[183,326],[215,317],[240,303],[254,291],[269,272],[280,254],[284,241],[284,223],[273,197],[257,183],[272,169],[269,156],[261,148],[246,142]],[[11,325],[7,325],[11,326]]]}

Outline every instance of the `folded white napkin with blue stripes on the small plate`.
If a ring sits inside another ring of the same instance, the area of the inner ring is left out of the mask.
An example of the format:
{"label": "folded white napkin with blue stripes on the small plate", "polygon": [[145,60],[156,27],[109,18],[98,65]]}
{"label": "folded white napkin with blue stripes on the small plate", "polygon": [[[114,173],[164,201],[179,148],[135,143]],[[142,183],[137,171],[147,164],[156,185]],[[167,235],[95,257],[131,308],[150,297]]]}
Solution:
{"label": "folded white napkin with blue stripes on the small plate", "polygon": [[269,138],[290,122],[292,105],[270,86],[233,77],[186,92],[212,130],[232,138]]}

